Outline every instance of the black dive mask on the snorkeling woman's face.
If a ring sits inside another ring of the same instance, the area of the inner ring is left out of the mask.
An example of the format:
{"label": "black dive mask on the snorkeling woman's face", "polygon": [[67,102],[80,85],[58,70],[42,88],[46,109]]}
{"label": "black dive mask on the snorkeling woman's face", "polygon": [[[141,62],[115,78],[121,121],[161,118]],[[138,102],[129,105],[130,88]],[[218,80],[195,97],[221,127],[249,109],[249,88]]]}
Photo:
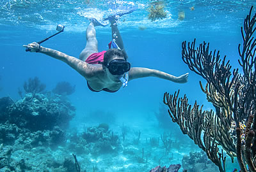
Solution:
{"label": "black dive mask on the snorkeling woman's face", "polygon": [[131,64],[123,59],[115,59],[106,65],[112,75],[124,75],[131,69]]}

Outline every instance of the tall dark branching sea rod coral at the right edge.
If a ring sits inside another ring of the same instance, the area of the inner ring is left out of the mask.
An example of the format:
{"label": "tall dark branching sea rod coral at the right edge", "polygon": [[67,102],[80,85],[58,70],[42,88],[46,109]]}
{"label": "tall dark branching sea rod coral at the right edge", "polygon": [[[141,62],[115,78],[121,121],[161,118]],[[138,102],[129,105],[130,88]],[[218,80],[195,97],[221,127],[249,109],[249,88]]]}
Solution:
{"label": "tall dark branching sea rod coral at the right edge", "polygon": [[232,161],[237,157],[242,172],[256,171],[256,13],[252,17],[252,9],[241,27],[243,45],[238,47],[243,73],[232,71],[226,57],[220,59],[216,50],[209,51],[209,43],[198,48],[195,40],[188,47],[186,41],[182,43],[182,60],[207,81],[205,87],[200,82],[200,87],[215,111],[203,111],[196,102],[191,106],[186,95],[179,97],[179,91],[173,95],[166,92],[163,99],[172,121],[221,172],[226,171],[223,150]]}

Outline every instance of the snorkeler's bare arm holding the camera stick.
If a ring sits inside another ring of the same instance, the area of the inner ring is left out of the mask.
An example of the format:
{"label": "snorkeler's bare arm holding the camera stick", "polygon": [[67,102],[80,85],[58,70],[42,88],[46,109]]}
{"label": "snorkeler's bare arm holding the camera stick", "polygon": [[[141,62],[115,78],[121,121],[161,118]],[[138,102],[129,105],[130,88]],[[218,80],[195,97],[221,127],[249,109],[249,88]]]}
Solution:
{"label": "snorkeler's bare arm holding the camera stick", "polygon": [[84,76],[85,78],[88,75],[86,73],[88,63],[81,61],[80,59],[77,59],[76,57],[69,56],[69,55],[59,52],[57,50],[53,50],[51,48],[42,47],[36,42],[29,43],[28,45],[23,45],[23,47],[29,48],[30,52],[40,52],[42,54],[49,55],[55,59],[65,62],[70,67],[75,69],[78,73],[80,73],[82,76]]}

